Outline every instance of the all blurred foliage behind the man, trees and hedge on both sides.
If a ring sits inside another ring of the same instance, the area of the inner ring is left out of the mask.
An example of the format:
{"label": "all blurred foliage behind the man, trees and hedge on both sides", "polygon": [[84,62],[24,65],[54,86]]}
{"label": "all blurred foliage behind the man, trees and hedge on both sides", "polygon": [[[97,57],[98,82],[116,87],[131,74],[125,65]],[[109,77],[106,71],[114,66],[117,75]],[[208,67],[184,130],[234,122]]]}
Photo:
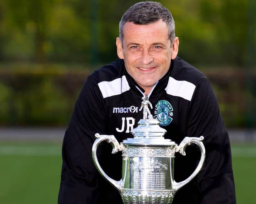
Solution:
{"label": "all blurred foliage behind the man, trees and hedge on both sides", "polygon": [[[79,71],[83,73],[79,75],[72,66],[87,64],[92,71],[116,60],[118,23],[135,2],[0,1],[0,125],[67,124],[89,73]],[[206,67],[204,73],[214,85],[226,125],[255,127],[255,1],[159,2],[175,19],[179,56],[196,67]],[[15,68],[5,66],[10,61],[16,62]],[[24,61],[44,65],[21,67]],[[71,66],[52,67],[54,62]],[[219,65],[224,68],[214,73],[207,68]],[[226,65],[239,68],[226,70]]]}

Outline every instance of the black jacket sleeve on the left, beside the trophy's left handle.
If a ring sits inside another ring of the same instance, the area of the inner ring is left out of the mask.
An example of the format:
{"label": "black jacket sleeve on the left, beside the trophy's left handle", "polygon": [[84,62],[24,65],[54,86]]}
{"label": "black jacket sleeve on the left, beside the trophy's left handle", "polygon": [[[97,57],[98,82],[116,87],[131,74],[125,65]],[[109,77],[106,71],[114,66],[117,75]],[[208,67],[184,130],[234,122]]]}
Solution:
{"label": "black jacket sleeve on the left, beside the trophy's left handle", "polygon": [[88,77],[64,135],[58,204],[96,202],[98,172],[91,151],[94,134],[105,129],[103,98],[97,84]]}

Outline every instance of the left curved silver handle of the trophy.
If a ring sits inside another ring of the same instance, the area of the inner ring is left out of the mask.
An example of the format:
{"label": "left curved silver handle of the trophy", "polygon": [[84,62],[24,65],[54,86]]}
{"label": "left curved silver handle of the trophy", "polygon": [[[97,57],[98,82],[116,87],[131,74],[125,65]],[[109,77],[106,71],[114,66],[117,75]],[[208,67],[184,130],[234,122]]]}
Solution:
{"label": "left curved silver handle of the trophy", "polygon": [[110,182],[119,192],[123,189],[123,180],[121,179],[120,181],[113,180],[110,178],[106,173],[103,171],[101,168],[100,164],[98,163],[98,158],[96,155],[97,147],[98,144],[100,144],[103,141],[107,141],[108,143],[111,143],[113,150],[112,154],[117,153],[118,151],[122,151],[123,146],[119,144],[119,142],[116,140],[114,135],[105,135],[105,134],[95,134],[96,140],[94,141],[94,145],[92,146],[92,158],[94,161],[94,165],[96,166],[98,172],[108,181]]}

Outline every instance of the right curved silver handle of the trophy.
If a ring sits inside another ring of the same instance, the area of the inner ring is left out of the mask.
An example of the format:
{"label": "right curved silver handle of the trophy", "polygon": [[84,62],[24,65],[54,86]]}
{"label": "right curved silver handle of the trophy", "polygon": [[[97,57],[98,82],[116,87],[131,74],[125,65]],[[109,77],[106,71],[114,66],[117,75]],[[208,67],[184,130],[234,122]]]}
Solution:
{"label": "right curved silver handle of the trophy", "polygon": [[173,189],[175,189],[176,191],[179,190],[182,186],[184,186],[185,184],[187,184],[188,182],[190,182],[192,180],[192,178],[194,178],[197,173],[199,172],[199,170],[202,168],[203,164],[204,164],[204,159],[205,159],[205,148],[204,148],[204,144],[202,143],[202,141],[204,140],[204,137],[185,137],[182,142],[180,143],[179,146],[176,147],[176,152],[180,152],[180,154],[182,154],[183,156],[186,155],[185,153],[185,149],[187,145],[190,145],[192,143],[197,144],[201,150],[201,158],[200,161],[197,165],[197,168],[194,170],[194,172],[185,180],[181,181],[181,182],[175,182],[175,180],[171,180],[172,182],[172,187]]}

